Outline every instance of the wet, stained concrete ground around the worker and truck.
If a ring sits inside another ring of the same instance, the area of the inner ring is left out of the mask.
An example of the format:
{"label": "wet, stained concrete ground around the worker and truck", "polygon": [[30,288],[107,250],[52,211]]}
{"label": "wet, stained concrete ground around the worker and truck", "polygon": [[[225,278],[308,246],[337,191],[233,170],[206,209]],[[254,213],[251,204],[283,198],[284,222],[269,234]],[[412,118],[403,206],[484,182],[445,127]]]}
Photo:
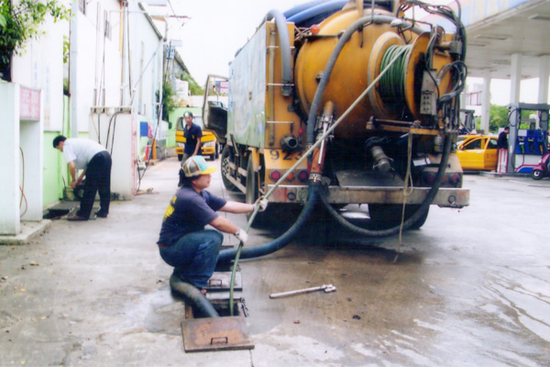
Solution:
{"label": "wet, stained concrete ground around the worker and truck", "polygon": [[[286,248],[240,262],[255,348],[186,353],[155,245],[178,165],[149,167],[150,193],[113,202],[107,219],[54,220],[0,246],[0,366],[550,365],[549,179],[467,175],[471,205],[432,207],[399,254],[397,236],[359,241],[317,212]],[[211,191],[243,200],[219,175]],[[252,229],[248,245],[281,227]]]}

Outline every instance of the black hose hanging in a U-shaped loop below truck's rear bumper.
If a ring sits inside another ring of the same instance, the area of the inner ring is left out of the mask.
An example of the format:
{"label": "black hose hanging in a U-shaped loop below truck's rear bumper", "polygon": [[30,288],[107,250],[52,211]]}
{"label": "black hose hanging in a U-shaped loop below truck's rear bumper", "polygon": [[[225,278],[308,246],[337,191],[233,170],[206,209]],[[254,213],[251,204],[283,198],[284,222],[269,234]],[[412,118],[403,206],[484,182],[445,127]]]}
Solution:
{"label": "black hose hanging in a U-shaped loop below truck's rear bumper", "polygon": [[[449,162],[449,156],[451,155],[451,146],[452,146],[452,139],[450,137],[447,137],[445,139],[445,148],[443,152],[443,156],[441,157],[441,163],[439,165],[439,169],[437,170],[437,175],[435,176],[435,182],[432,186],[430,192],[420,205],[420,208],[411,215],[409,219],[407,219],[405,222],[403,222],[403,231],[409,229],[416,221],[424,214],[426,214],[426,211],[430,207],[430,204],[432,203],[433,199],[437,195],[437,192],[439,191],[439,187],[441,186],[441,182],[443,181],[443,175],[445,174],[445,170],[447,167],[447,164]],[[348,222],[345,218],[343,218],[328,202],[326,195],[321,193],[320,194],[321,201],[325,205],[325,208],[329,212],[329,214],[343,227],[346,229],[358,233],[363,236],[367,237],[388,237],[393,236],[395,234],[398,234],[401,230],[401,225],[397,225],[392,228],[384,229],[384,230],[369,230],[366,228],[358,227],[350,222]]]}

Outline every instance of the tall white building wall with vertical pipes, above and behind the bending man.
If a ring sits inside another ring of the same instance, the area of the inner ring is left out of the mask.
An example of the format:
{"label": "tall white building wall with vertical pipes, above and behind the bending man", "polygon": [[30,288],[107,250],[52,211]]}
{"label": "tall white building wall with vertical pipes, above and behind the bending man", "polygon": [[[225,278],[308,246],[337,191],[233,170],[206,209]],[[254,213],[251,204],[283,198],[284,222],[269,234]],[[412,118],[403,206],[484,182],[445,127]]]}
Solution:
{"label": "tall white building wall with vertical pipes, above and behind the bending man", "polygon": [[[132,103],[136,111],[139,107],[140,112],[152,117],[155,92],[162,75],[162,68],[158,66],[162,64],[162,40],[136,0],[129,1],[128,10],[130,47],[126,62],[123,60],[123,8],[118,0],[92,1],[87,5],[86,15],[78,15],[79,130],[88,128],[92,106],[128,107]],[[110,37],[104,36],[106,19]],[[125,72],[130,78],[123,80]],[[131,102],[123,103],[124,90],[135,93]]]}

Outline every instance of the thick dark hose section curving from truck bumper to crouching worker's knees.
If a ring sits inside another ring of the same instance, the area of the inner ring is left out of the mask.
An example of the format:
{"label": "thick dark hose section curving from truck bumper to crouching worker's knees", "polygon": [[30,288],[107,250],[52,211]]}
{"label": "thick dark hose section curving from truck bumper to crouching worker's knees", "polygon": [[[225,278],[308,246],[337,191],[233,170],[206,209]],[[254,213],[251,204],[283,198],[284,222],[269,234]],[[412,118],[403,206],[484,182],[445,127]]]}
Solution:
{"label": "thick dark hose section curving from truck bumper to crouching worker's knees", "polygon": [[[309,219],[311,213],[313,212],[313,208],[315,207],[315,203],[317,202],[317,199],[319,197],[319,186],[319,182],[310,181],[307,202],[302,209],[302,212],[296,219],[296,222],[283,235],[271,242],[265,243],[260,246],[244,247],[242,249],[240,258],[251,259],[255,257],[265,256],[285,247],[296,235],[296,233],[298,233],[298,231],[302,229],[306,221]],[[218,264],[227,263],[233,260],[236,254],[236,249],[220,251]]]}

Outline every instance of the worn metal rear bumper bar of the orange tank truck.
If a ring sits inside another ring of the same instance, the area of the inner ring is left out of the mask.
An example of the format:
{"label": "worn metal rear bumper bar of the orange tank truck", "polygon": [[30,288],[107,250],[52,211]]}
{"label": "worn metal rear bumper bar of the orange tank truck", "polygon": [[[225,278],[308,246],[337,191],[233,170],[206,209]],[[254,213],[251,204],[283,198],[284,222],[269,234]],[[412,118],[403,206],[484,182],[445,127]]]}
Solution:
{"label": "worn metal rear bumper bar of the orange tank truck", "polygon": [[[268,185],[271,190],[273,185]],[[406,197],[407,204],[421,204],[429,187],[415,187]],[[306,185],[280,185],[269,198],[270,202],[303,203],[307,199]],[[330,186],[327,196],[331,204],[403,204],[403,187],[361,187],[361,186]],[[470,190],[442,187],[439,189],[432,205],[449,208],[461,208],[470,203]]]}

